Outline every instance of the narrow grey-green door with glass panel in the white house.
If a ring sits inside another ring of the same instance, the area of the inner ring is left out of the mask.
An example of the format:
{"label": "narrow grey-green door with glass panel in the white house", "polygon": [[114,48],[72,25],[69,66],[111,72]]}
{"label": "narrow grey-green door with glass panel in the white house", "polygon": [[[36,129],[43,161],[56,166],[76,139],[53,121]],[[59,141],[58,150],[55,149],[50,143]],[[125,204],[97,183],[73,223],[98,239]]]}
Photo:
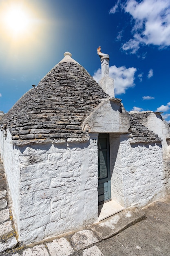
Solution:
{"label": "narrow grey-green door with glass panel in the white house", "polygon": [[109,134],[98,137],[98,200],[99,204],[111,199]]}

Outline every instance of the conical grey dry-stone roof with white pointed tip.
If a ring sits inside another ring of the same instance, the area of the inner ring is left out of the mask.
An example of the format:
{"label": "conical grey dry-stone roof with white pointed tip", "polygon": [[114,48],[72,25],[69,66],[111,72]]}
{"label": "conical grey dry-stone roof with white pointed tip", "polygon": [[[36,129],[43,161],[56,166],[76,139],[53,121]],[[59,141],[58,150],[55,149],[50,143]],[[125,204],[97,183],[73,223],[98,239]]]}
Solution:
{"label": "conical grey dry-stone roof with white pointed tip", "polygon": [[101,99],[108,97],[84,67],[66,52],[38,86],[15,103],[1,124],[9,128],[18,145],[24,141],[27,144],[33,140],[88,137],[82,123]]}

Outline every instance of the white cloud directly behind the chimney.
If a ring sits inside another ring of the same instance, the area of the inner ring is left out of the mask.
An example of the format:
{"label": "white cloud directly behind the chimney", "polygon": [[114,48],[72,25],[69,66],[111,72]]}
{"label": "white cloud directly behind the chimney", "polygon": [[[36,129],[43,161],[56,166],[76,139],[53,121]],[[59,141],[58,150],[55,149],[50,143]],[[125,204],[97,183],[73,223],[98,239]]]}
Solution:
{"label": "white cloud directly behind the chimney", "polygon": [[[114,65],[109,68],[110,77],[114,79],[115,94],[125,93],[128,88],[135,85],[134,80],[136,71],[137,69],[135,67],[126,68],[124,66],[116,67]],[[98,69],[97,72],[95,72],[93,78],[98,83],[102,78],[101,69]]]}

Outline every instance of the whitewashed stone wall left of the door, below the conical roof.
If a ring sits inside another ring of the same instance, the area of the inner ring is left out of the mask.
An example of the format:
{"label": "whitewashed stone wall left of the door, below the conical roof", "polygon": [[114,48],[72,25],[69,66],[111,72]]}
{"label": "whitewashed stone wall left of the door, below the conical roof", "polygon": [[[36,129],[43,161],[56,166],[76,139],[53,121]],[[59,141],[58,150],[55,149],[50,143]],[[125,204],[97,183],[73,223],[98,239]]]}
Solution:
{"label": "whitewashed stone wall left of the door, below the conical roof", "polygon": [[11,160],[4,165],[8,181],[15,176],[9,187],[21,241],[31,243],[97,221],[97,135],[87,142],[20,146],[13,151],[8,142]]}

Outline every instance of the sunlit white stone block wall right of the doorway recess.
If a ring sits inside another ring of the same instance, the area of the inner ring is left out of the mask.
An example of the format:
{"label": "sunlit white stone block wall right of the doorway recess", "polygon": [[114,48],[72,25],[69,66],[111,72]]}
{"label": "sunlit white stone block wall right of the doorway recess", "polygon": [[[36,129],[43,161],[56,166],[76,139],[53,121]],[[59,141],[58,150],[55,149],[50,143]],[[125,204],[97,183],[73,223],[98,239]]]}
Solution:
{"label": "sunlit white stone block wall right of the doorway recess", "polygon": [[124,207],[143,207],[166,195],[161,143],[130,144],[120,137]]}

